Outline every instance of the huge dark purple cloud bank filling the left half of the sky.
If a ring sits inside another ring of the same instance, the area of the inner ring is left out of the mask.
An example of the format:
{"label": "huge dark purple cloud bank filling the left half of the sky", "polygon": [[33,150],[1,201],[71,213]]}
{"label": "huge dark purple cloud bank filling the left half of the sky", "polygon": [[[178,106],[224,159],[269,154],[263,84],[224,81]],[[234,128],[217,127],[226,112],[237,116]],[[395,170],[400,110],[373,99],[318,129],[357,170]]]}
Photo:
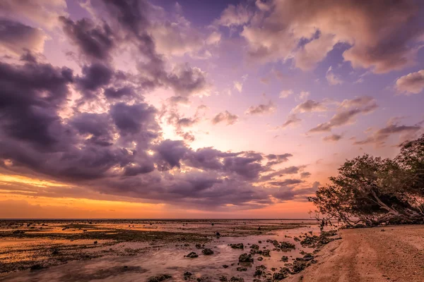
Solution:
{"label": "huge dark purple cloud bank filling the left half of the sky", "polygon": [[[265,159],[260,152],[194,150],[181,140],[163,140],[160,112],[143,102],[141,94],[168,87],[175,92],[171,102],[188,103],[190,97],[210,92],[207,74],[187,64],[165,71],[164,58],[147,31],[151,5],[146,1],[103,2],[107,13],[101,15],[110,16],[105,17],[107,23],[98,25],[99,18],[60,18],[65,35],[81,55],[75,56],[82,59],[77,62],[83,66],[80,75],[38,63],[30,52],[24,54],[22,65],[0,63],[2,169],[68,183],[76,188],[64,195],[75,197],[84,197],[87,190],[88,197],[100,193],[204,209],[272,204],[269,192],[257,182],[262,173],[273,171],[269,166],[292,155],[269,154]],[[114,50],[130,45],[137,50],[136,75],[111,67]],[[69,88],[82,94],[76,104],[85,106],[86,98],[101,102],[102,113],[72,108]],[[232,123],[233,116],[220,121]],[[201,118],[197,112],[189,117],[175,114],[170,121],[186,130]],[[181,136],[194,139],[190,131]],[[47,192],[37,190],[34,195],[48,194],[42,193]]]}

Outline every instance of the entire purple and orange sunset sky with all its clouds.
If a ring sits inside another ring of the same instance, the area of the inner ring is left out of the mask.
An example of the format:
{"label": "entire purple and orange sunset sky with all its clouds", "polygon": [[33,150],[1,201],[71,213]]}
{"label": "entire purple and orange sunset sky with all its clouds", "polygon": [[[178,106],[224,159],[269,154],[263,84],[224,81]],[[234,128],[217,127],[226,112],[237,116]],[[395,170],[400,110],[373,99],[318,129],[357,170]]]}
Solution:
{"label": "entire purple and orange sunset sky with all its clouds", "polygon": [[0,2],[0,218],[308,218],[424,133],[419,0]]}

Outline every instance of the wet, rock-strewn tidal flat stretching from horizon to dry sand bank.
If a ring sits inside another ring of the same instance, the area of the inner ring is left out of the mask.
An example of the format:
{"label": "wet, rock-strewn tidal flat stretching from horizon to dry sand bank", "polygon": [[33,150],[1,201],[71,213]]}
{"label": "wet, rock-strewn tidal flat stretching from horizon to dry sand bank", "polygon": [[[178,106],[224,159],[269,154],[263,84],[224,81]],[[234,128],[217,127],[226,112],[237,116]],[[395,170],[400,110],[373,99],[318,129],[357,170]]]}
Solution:
{"label": "wet, rock-strewn tidal flat stretching from horizon to dry sand bank", "polygon": [[0,281],[279,281],[327,235],[307,219],[3,220]]}

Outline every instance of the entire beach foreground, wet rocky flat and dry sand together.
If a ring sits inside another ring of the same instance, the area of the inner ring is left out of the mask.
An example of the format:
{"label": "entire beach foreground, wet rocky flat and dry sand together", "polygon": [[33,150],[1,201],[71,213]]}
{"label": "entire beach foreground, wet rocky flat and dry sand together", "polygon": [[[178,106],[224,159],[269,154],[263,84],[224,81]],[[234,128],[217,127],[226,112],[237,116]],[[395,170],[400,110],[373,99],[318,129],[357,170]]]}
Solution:
{"label": "entire beach foreground, wet rocky flat and dry sand together", "polygon": [[0,281],[424,281],[423,226],[2,221]]}

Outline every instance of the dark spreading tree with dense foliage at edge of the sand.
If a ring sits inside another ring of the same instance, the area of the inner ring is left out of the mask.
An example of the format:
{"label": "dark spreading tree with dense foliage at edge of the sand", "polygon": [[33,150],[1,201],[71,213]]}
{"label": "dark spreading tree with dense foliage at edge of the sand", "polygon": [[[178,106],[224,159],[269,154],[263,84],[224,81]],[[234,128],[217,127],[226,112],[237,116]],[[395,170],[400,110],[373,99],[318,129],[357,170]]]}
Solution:
{"label": "dark spreading tree with dense foliage at edge of the sand", "polygon": [[324,219],[348,226],[424,222],[424,135],[395,159],[368,154],[346,161],[308,200]]}

